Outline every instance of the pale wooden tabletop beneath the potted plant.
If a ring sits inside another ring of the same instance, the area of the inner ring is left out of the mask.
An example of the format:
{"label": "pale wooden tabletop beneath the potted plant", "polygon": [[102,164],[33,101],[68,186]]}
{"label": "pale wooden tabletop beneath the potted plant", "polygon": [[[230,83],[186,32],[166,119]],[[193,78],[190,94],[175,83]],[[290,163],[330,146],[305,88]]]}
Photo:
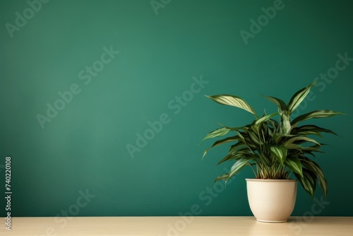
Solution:
{"label": "pale wooden tabletop beneath the potted plant", "polygon": [[287,223],[261,223],[249,216],[11,218],[11,231],[1,223],[0,235],[352,236],[353,217],[292,217]]}

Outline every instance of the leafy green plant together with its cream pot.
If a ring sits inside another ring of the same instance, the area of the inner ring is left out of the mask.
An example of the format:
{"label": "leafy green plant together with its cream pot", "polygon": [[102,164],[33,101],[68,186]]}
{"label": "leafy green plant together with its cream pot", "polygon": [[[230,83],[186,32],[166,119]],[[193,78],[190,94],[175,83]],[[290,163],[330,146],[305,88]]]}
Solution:
{"label": "leafy green plant together with its cream pot", "polygon": [[[327,194],[328,182],[323,175],[323,170],[313,159],[316,153],[322,153],[319,149],[323,143],[319,143],[313,137],[322,137],[321,133],[335,133],[313,124],[301,125],[301,122],[342,113],[332,110],[314,110],[294,119],[291,117],[313,85],[315,83],[299,90],[287,104],[279,98],[265,96],[277,105],[278,112],[273,114],[264,112],[261,117],[256,114],[253,107],[237,96],[206,96],[222,105],[239,107],[255,117],[251,124],[246,126],[222,126],[220,129],[211,131],[203,140],[234,132],[233,136],[217,140],[210,147],[232,143],[229,144],[227,155],[218,164],[225,161],[235,162],[229,172],[218,176],[215,182],[225,179],[227,183],[228,179],[237,175],[244,167],[251,167],[255,179],[246,179],[246,187],[251,211],[258,221],[287,221],[294,209],[297,180],[312,197],[316,182],[323,194],[325,196]],[[210,148],[205,150],[203,157]],[[295,179],[292,179],[293,177]]]}

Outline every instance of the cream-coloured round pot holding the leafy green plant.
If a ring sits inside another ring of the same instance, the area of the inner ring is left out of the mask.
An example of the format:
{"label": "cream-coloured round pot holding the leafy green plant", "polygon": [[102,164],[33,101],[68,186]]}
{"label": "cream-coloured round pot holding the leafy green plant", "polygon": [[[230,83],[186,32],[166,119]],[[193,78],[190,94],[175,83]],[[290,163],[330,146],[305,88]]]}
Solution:
{"label": "cream-coloured round pot holding the leafy green plant", "polygon": [[297,198],[295,179],[246,179],[249,206],[262,222],[286,222]]}

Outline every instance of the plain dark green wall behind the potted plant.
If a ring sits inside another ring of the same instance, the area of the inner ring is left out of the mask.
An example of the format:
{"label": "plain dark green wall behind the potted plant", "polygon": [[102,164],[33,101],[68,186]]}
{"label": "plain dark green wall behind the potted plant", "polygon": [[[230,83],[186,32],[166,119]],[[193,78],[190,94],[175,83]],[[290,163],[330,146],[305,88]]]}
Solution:
{"label": "plain dark green wall behind the potted plant", "polygon": [[261,94],[289,100],[314,80],[298,114],[348,115],[315,120],[339,134],[318,155],[328,202],[313,213],[299,187],[293,215],[353,216],[352,1],[38,3],[0,3],[0,182],[11,156],[12,216],[251,216],[251,170],[213,189],[232,163],[216,166],[225,148],[201,161],[212,143],[201,140],[252,117],[203,95],[270,112]]}

